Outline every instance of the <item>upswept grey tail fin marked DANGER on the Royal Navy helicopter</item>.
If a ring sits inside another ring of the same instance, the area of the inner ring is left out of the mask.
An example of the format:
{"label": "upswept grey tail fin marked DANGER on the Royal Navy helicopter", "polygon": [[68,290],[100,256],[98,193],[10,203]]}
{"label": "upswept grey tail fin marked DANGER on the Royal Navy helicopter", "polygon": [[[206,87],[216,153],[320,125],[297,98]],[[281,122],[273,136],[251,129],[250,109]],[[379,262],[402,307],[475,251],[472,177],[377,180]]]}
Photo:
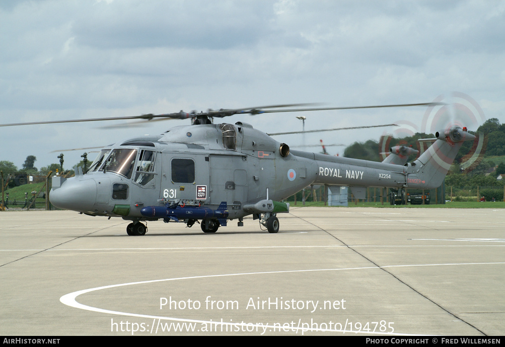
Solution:
{"label": "upswept grey tail fin marked DANGER on the Royal Navy helicopter", "polygon": [[407,186],[430,189],[442,184],[464,141],[474,140],[466,128],[436,132],[437,140],[414,163],[407,164]]}

